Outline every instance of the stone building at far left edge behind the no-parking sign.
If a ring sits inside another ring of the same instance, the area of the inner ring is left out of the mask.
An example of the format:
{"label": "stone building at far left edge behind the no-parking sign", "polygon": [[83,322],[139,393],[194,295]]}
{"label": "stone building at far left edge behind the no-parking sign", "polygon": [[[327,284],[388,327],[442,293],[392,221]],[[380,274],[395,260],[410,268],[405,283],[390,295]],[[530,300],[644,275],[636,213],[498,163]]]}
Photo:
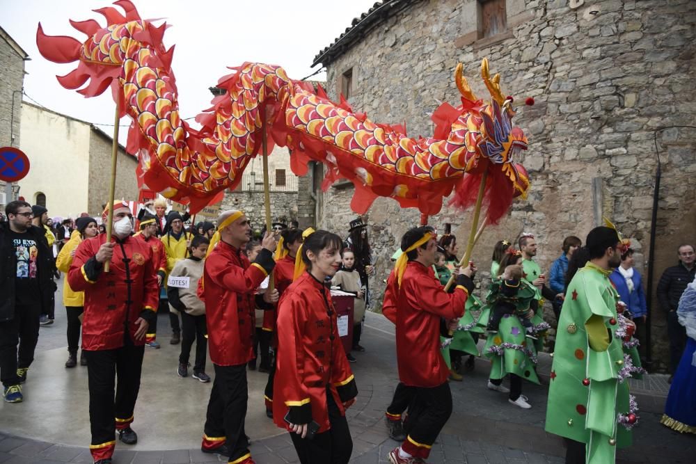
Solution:
{"label": "stone building at far left edge behind the no-parking sign", "polygon": [[[29,56],[0,27],[0,147],[19,147],[22,122],[24,61]],[[0,209],[14,198],[6,198],[6,184],[0,180]]]}

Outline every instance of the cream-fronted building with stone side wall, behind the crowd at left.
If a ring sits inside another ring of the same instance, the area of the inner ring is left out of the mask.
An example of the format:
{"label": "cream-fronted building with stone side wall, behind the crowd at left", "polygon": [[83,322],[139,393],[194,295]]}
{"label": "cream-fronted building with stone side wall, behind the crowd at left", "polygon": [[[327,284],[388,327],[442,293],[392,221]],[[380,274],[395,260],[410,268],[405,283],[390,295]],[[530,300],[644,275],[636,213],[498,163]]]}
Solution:
{"label": "cream-fronted building with stone side wall, behind the crowd at left", "polygon": [[[70,116],[22,102],[20,149],[31,161],[20,180],[19,195],[35,205],[44,202],[50,216],[102,216],[109,200],[111,136]],[[138,161],[118,147],[115,198],[138,199]]]}

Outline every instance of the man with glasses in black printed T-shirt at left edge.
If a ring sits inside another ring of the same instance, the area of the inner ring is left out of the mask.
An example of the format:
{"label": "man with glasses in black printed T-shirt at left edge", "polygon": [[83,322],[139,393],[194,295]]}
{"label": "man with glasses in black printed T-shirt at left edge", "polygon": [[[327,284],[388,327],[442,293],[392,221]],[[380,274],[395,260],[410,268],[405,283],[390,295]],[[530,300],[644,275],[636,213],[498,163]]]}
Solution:
{"label": "man with glasses in black printed T-shirt at left edge", "polygon": [[8,221],[0,223],[0,381],[3,399],[19,403],[34,359],[39,317],[53,296],[53,254],[43,228],[31,224],[29,203],[9,202],[5,214]]}

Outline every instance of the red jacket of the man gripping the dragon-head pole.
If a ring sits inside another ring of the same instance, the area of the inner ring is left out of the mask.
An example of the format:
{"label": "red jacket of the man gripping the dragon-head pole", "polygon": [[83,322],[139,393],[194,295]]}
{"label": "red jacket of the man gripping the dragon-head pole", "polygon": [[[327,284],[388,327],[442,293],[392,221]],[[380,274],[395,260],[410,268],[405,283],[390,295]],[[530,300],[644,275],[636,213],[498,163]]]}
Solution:
{"label": "red jacket of the man gripping the dragon-head pole", "polygon": [[450,369],[440,353],[441,319],[462,317],[472,289],[471,279],[461,274],[457,287],[447,293],[432,268],[416,261],[406,264],[401,288],[395,275],[390,275],[385,292],[390,295],[385,299],[397,308],[396,353],[402,383],[436,387],[447,381]]}

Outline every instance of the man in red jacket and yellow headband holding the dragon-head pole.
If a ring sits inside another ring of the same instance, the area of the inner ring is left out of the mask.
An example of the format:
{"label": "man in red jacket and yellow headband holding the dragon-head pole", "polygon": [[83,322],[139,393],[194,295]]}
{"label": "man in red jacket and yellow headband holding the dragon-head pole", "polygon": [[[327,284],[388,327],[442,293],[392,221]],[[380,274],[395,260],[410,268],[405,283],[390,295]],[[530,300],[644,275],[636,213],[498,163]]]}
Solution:
{"label": "man in red jacket and yellow headband holding the dragon-head pole", "polygon": [[452,392],[447,381],[450,371],[440,353],[440,334],[464,315],[466,298],[473,289],[471,265],[459,270],[457,287],[451,294],[435,280],[431,269],[437,242],[431,227],[406,232],[401,249],[404,253],[397,259],[388,291],[396,296],[399,379],[415,387],[416,407],[409,415],[406,440],[389,453],[393,464],[427,458],[452,414]]}

